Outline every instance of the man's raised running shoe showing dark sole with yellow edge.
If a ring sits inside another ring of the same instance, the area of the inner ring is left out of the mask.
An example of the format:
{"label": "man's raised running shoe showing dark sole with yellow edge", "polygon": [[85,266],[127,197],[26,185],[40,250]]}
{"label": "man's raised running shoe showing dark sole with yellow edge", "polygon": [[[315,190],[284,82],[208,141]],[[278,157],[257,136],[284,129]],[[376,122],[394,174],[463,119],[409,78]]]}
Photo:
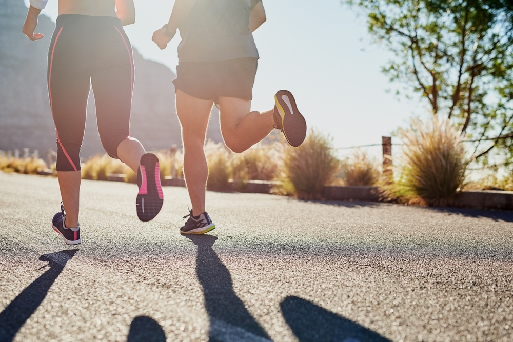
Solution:
{"label": "man's raised running shoe showing dark sole with yellow edge", "polygon": [[282,131],[287,142],[298,147],[306,137],[306,120],[295,105],[294,96],[287,90],[274,95],[274,128]]}

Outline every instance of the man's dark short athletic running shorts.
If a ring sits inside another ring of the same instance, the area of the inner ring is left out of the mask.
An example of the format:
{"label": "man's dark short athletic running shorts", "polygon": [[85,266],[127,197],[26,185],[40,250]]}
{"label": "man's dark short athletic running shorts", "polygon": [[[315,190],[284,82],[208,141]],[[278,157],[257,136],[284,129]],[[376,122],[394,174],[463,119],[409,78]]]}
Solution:
{"label": "man's dark short athletic running shorts", "polygon": [[176,67],[174,87],[204,100],[218,97],[253,99],[257,58],[218,62],[181,62]]}

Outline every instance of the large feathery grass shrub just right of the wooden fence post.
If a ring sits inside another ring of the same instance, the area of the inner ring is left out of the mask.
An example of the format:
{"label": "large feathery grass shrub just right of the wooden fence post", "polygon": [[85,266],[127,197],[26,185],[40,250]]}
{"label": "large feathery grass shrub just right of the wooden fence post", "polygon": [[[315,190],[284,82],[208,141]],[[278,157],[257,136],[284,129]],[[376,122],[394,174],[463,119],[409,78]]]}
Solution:
{"label": "large feathery grass shrub just right of the wooden fence post", "polygon": [[413,119],[399,133],[404,143],[399,179],[383,187],[385,197],[410,204],[450,204],[465,180],[460,134],[448,120],[436,117],[430,123]]}

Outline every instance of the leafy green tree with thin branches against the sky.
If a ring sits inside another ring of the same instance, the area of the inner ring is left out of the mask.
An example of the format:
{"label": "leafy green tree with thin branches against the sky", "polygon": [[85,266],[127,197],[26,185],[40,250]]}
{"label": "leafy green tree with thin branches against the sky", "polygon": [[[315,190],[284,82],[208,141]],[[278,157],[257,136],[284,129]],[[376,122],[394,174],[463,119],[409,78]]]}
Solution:
{"label": "leafy green tree with thin branches against the sky", "polygon": [[[395,55],[383,67],[473,141],[513,166],[513,5],[508,0],[342,0]],[[477,140],[477,141],[476,141]]]}

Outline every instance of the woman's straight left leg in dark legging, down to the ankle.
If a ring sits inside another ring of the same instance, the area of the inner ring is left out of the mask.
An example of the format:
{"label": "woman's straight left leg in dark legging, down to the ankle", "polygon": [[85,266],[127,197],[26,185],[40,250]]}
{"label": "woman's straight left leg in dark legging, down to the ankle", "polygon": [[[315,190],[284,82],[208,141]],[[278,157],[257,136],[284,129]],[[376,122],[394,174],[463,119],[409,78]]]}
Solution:
{"label": "woman's straight left leg in dark legging, down to the ankle", "polygon": [[84,49],[73,28],[57,27],[48,54],[48,92],[57,136],[57,175],[65,225],[78,225],[80,148],[90,81]]}

